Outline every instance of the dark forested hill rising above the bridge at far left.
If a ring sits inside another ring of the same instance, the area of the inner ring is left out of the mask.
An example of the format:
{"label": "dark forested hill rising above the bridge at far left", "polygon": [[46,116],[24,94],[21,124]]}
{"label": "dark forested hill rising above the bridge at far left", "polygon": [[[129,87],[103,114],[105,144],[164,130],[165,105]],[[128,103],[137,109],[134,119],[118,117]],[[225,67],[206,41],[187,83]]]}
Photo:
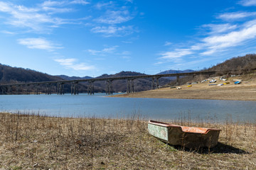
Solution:
{"label": "dark forested hill rising above the bridge at far left", "polygon": [[1,83],[38,82],[56,80],[62,79],[60,77],[50,76],[49,74],[36,72],[31,69],[10,67],[4,64],[0,64]]}

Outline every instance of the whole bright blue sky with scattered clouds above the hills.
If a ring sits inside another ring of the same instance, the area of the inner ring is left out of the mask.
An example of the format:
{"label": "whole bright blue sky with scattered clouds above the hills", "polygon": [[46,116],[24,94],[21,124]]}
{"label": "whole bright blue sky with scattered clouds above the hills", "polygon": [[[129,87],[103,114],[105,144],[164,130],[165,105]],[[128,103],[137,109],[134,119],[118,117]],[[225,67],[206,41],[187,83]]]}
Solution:
{"label": "whole bright blue sky with scattered clouds above the hills", "polygon": [[0,0],[0,63],[47,74],[157,74],[256,52],[256,0]]}

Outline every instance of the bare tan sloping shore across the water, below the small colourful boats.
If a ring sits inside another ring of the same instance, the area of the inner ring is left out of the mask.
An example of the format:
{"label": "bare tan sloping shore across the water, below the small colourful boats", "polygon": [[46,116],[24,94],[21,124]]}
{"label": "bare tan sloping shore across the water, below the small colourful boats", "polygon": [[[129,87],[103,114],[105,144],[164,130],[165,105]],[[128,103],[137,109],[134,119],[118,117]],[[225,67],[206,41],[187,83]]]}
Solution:
{"label": "bare tan sloping shore across the water, below the small colourful boats", "polygon": [[[239,79],[241,79],[240,77]],[[236,78],[238,79],[238,78]],[[227,81],[217,79],[215,84],[223,84]],[[233,101],[256,101],[255,79],[245,79],[241,84],[234,84],[233,79],[228,79],[230,84],[223,86],[209,86],[209,82],[198,82],[188,87],[188,84],[176,88],[162,88],[151,91],[141,91],[134,94],[119,94],[114,97],[127,98],[187,98],[187,99],[210,99],[210,100],[233,100]],[[176,86],[178,87],[178,86]]]}

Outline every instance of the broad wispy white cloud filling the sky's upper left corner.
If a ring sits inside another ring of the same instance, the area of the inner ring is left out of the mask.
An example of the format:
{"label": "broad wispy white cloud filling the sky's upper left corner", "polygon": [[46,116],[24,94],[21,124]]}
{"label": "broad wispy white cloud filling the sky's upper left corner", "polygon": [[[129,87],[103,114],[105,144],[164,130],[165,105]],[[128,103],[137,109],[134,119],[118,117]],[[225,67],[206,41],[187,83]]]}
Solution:
{"label": "broad wispy white cloud filling the sky's upper left corner", "polygon": [[44,1],[34,7],[26,7],[0,1],[0,12],[5,13],[4,23],[16,28],[23,28],[33,33],[48,33],[49,30],[63,24],[78,24],[78,18],[65,19],[54,16],[55,13],[75,11],[65,8],[68,4],[87,4],[86,1]]}

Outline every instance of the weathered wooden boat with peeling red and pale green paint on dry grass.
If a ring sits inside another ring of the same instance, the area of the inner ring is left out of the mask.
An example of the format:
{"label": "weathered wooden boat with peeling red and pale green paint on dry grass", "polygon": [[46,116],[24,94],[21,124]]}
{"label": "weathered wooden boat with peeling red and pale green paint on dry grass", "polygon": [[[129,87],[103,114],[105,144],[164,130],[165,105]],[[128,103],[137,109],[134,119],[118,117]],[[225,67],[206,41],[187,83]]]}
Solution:
{"label": "weathered wooden boat with peeling red and pale green paint on dry grass", "polygon": [[154,120],[149,120],[148,130],[150,135],[163,142],[190,149],[215,147],[220,135],[219,129],[186,127]]}

